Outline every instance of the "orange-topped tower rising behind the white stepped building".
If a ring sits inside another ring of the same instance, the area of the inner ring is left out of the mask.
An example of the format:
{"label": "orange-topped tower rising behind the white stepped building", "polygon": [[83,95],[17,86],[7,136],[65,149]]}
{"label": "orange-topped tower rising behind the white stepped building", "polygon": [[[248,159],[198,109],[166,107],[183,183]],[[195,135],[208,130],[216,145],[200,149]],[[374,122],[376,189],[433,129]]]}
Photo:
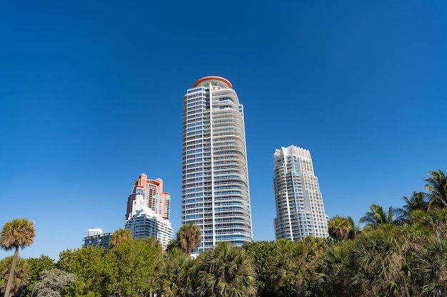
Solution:
{"label": "orange-topped tower rising behind the white stepped building", "polygon": [[164,219],[169,219],[171,211],[171,194],[163,192],[163,180],[148,179],[142,173],[134,182],[132,192],[127,199],[126,219],[132,212],[132,204],[137,194],[143,195],[148,207],[156,214],[160,214]]}

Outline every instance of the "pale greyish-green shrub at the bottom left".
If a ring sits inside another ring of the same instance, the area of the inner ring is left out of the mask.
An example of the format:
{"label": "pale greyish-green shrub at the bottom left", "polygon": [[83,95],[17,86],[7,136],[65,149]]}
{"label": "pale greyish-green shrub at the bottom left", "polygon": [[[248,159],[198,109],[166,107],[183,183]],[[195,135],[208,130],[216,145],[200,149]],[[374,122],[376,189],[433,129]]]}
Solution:
{"label": "pale greyish-green shrub at the bottom left", "polygon": [[59,269],[51,269],[41,272],[41,281],[35,284],[33,289],[33,297],[59,297],[60,291],[71,283],[74,283],[76,275],[61,271]]}

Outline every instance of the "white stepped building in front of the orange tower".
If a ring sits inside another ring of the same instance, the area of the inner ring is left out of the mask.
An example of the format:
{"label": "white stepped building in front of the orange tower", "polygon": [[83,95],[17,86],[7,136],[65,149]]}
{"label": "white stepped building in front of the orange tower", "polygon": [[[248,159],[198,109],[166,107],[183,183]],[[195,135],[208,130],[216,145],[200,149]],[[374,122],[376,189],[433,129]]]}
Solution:
{"label": "white stepped building in front of the orange tower", "polygon": [[136,193],[131,202],[131,212],[126,219],[126,229],[131,230],[132,238],[154,236],[159,239],[163,250],[168,246],[173,236],[171,222],[152,210],[142,193]]}

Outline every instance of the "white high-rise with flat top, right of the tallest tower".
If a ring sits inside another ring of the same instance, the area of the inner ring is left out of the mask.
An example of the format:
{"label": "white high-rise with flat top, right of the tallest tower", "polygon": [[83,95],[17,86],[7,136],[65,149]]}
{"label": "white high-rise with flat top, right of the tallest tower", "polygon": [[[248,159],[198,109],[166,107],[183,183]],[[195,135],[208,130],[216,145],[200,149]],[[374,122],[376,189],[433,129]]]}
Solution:
{"label": "white high-rise with flat top, right of the tallest tower", "polygon": [[328,217],[311,153],[291,145],[276,150],[273,189],[276,202],[276,239],[299,241],[308,235],[328,237]]}

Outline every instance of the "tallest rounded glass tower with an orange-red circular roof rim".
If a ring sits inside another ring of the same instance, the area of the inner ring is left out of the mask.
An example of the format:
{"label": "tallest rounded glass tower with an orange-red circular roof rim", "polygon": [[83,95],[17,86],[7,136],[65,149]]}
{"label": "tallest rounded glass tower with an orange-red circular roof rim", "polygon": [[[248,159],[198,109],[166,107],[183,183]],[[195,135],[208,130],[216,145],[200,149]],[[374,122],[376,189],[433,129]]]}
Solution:
{"label": "tallest rounded glass tower with an orange-red circular roof rim", "polygon": [[231,83],[206,76],[184,95],[182,223],[201,229],[199,251],[253,239],[243,105]]}

